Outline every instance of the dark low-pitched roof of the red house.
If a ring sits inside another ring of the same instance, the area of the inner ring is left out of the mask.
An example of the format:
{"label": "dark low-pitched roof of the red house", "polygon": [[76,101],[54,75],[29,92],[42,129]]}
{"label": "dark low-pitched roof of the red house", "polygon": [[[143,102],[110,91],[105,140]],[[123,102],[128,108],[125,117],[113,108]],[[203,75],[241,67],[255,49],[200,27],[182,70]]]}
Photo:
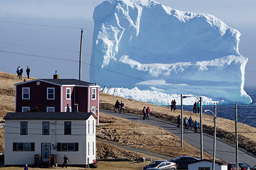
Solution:
{"label": "dark low-pitched roof of the red house", "polygon": [[21,84],[35,82],[35,81],[43,81],[43,82],[47,82],[47,83],[51,83],[51,84],[55,84],[55,85],[86,85],[86,86],[95,85],[93,83],[84,82],[84,81],[77,80],[77,79],[35,79],[35,80],[27,81],[27,82],[17,83],[14,85],[21,85]]}

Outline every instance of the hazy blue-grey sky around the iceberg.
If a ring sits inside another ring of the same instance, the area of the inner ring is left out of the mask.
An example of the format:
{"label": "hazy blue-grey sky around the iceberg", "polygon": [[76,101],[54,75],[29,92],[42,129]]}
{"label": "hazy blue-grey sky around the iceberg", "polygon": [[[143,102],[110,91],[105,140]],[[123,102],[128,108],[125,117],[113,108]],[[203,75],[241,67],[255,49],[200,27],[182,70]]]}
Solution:
{"label": "hazy blue-grey sky around the iceberg", "polygon": [[[94,8],[103,0],[0,0],[0,21],[85,28],[93,32]],[[157,0],[166,6],[195,13],[212,14],[241,33],[239,52],[248,57],[246,70],[256,71],[255,0]],[[93,34],[84,30],[83,59],[90,63]],[[79,60],[80,30],[0,22],[0,51]],[[11,44],[63,49],[59,51]],[[31,77],[77,78],[77,62],[0,52],[0,71],[15,73],[16,68],[31,68]],[[255,72],[246,71],[245,85],[255,85]],[[82,65],[82,80],[89,81],[89,66]]]}

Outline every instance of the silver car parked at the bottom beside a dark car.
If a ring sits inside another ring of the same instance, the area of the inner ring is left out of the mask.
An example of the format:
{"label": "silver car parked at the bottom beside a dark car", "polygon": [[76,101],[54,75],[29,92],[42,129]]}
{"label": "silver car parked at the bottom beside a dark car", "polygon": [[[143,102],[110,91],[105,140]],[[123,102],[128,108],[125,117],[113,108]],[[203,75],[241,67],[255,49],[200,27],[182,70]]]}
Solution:
{"label": "silver car parked at the bottom beside a dark car", "polygon": [[157,160],[143,167],[143,170],[177,170],[177,165],[174,162]]}

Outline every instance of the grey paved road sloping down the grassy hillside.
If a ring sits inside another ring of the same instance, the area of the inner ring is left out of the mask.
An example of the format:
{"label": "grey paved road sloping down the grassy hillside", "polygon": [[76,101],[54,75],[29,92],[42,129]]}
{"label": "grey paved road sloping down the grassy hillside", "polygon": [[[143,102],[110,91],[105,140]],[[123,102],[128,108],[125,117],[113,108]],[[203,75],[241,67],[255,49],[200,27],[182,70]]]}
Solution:
{"label": "grey paved road sloping down the grassy hillside", "polygon": [[[156,125],[164,130],[167,130],[176,136],[180,137],[180,129],[177,128],[176,125],[172,125],[169,123],[161,122],[158,120],[142,120],[142,117],[138,117],[135,115],[126,115],[126,114],[118,114],[113,113],[111,111],[107,110],[100,110],[100,112],[117,116],[124,119],[129,119],[133,121],[137,121],[139,123],[145,123],[145,124],[153,124]],[[191,145],[200,148],[200,134],[194,133],[193,131],[184,131],[183,133],[183,139],[190,143]],[[207,153],[212,154],[213,153],[213,137],[203,135],[203,150]],[[256,156],[252,155],[251,153],[248,153],[244,150],[240,150],[238,152],[238,160],[239,162],[245,162],[249,164],[250,166],[256,165]],[[200,157],[200,155],[197,155],[197,157]],[[216,140],[216,157],[227,162],[235,162],[236,161],[236,149],[235,147],[222,142],[221,140]]]}

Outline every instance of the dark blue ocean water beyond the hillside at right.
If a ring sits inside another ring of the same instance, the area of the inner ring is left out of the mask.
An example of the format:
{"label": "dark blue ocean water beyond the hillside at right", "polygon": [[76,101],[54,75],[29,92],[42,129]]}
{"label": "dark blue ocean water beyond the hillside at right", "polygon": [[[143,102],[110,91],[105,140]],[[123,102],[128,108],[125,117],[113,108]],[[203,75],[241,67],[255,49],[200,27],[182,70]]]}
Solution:
{"label": "dark blue ocean water beyond the hillside at right", "polygon": [[[247,105],[237,105],[237,121],[256,127],[256,86],[247,86],[244,88],[247,94],[252,98],[253,102]],[[214,105],[203,105],[203,110],[211,110],[214,112]],[[180,109],[180,105],[177,105]],[[234,105],[217,105],[217,117],[235,120],[235,103]],[[193,106],[183,105],[183,110],[193,111]],[[206,112],[213,115],[211,112]]]}

